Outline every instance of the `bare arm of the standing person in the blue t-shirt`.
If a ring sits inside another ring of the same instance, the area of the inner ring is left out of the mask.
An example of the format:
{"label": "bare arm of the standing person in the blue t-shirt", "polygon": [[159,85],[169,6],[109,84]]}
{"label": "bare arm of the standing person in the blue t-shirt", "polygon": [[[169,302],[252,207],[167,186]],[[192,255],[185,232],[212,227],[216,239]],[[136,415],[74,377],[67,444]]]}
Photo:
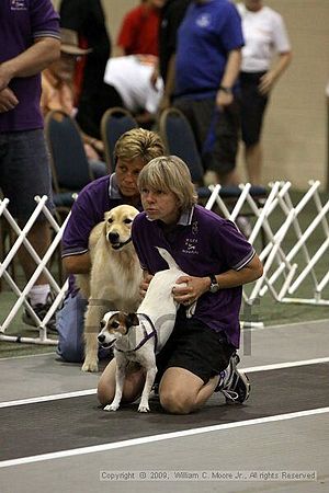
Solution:
{"label": "bare arm of the standing person in the blue t-shirt", "polygon": [[229,51],[224,76],[216,95],[216,105],[219,108],[228,106],[234,101],[231,90],[240,72],[241,59],[241,48]]}

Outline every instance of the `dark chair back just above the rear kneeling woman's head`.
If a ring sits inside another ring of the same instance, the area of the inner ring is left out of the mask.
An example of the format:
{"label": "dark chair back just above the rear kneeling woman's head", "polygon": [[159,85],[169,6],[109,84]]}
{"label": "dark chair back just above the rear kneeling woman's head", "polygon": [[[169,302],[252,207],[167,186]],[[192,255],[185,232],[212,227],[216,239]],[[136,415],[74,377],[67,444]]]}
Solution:
{"label": "dark chair back just above the rear kneeling woman's head", "polygon": [[137,128],[138,124],[133,115],[124,107],[115,106],[106,110],[101,121],[101,136],[105,148],[105,161],[109,173],[115,169],[114,147],[116,140],[128,130]]}

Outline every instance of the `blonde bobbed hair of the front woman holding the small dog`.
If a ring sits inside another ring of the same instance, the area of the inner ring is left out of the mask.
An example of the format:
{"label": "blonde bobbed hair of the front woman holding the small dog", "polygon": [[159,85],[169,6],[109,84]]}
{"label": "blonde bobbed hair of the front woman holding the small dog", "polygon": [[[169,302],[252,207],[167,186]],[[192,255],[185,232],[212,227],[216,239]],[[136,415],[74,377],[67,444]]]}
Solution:
{"label": "blonde bobbed hair of the front woman holding the small dog", "polygon": [[188,165],[177,156],[155,158],[146,164],[138,176],[138,188],[172,192],[182,209],[189,209],[197,202]]}

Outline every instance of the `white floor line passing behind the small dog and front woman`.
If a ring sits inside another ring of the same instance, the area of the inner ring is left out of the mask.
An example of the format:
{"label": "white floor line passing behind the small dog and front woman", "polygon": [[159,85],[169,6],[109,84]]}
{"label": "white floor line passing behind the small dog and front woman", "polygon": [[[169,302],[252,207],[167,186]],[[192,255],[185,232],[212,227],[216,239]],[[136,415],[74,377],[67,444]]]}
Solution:
{"label": "white floor line passing behind the small dog and front woman", "polygon": [[[282,368],[293,368],[296,366],[318,365],[321,363],[329,363],[329,357],[316,358],[316,359],[303,359],[299,362],[274,363],[273,365],[251,366],[250,368],[239,368],[239,369],[241,371],[251,374],[251,372],[257,372],[257,371],[269,371],[269,370],[282,369]],[[57,401],[60,399],[71,399],[71,398],[83,397],[83,395],[92,395],[93,393],[97,393],[97,389],[77,390],[73,392],[55,393],[55,394],[50,394],[50,395],[39,395],[39,397],[35,397],[35,398],[0,402],[0,409],[1,408],[12,408],[14,405],[35,404],[38,402]]]}

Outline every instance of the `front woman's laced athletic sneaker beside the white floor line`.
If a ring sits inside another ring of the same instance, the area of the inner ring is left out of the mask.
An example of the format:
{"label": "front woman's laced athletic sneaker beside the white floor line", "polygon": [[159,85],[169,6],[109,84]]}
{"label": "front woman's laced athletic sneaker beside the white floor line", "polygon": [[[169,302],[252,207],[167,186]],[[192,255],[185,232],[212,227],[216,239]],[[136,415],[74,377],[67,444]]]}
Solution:
{"label": "front woman's laced athletic sneaker beside the white floor line", "polygon": [[242,404],[249,398],[250,382],[246,374],[237,370],[240,358],[235,353],[230,357],[228,367],[222,371],[215,392],[222,392],[226,398],[226,402]]}

